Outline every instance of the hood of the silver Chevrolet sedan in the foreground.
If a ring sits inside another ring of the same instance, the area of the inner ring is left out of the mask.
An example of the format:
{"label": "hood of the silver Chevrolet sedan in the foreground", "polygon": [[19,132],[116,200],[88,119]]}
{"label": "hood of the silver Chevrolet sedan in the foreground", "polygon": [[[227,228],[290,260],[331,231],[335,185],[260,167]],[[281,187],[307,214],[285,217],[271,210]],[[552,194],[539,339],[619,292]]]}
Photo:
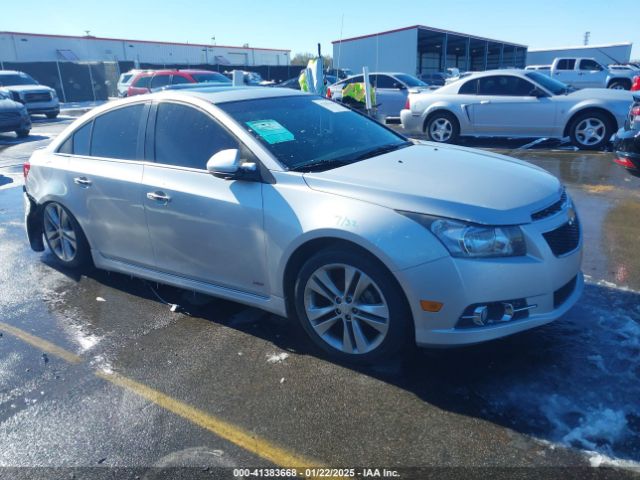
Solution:
{"label": "hood of the silver Chevrolet sedan in the foreground", "polygon": [[531,214],[556,202],[562,188],[528,163],[427,142],[304,179],[313,190],[486,225],[530,223]]}

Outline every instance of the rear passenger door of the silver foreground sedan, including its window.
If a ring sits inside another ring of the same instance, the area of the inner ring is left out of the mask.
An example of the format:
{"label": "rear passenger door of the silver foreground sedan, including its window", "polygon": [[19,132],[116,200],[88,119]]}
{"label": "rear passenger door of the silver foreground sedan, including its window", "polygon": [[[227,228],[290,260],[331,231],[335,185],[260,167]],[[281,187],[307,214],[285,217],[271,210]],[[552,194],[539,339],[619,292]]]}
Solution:
{"label": "rear passenger door of the silver foreground sedan, including its window", "polygon": [[144,129],[149,103],[110,110],[85,124],[61,150],[69,152],[69,208],[92,250],[106,258],[152,266],[142,204]]}

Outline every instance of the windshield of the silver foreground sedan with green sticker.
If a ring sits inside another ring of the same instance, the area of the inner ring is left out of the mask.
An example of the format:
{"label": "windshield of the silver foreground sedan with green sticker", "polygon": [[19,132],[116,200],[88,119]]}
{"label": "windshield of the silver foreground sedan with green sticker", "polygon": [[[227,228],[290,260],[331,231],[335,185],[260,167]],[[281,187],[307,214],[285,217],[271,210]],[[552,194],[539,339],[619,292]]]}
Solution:
{"label": "windshield of the silver foreground sedan with green sticker", "polygon": [[326,170],[411,144],[379,123],[315,95],[217,106],[290,170]]}

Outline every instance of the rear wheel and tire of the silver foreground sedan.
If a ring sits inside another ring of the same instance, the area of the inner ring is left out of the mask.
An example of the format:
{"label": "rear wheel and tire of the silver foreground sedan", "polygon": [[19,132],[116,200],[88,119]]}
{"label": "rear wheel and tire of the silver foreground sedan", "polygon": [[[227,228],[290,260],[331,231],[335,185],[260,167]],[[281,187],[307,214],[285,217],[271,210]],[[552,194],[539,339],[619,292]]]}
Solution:
{"label": "rear wheel and tire of the silver foreground sedan", "polygon": [[42,212],[42,222],[47,246],[60,265],[74,270],[88,265],[89,243],[66,208],[56,202],[47,203]]}

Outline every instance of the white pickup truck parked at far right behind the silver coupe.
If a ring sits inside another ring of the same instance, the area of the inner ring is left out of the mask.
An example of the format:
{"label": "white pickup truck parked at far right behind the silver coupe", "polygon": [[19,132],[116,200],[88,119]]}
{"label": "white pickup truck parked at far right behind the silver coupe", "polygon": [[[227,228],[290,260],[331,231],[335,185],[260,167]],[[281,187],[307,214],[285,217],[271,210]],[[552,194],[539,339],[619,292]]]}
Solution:
{"label": "white pickup truck parked at far right behind the silver coupe", "polygon": [[556,80],[575,88],[614,88],[629,90],[635,75],[634,70],[610,70],[593,58],[559,57],[550,68],[531,65],[527,69],[534,69],[549,75]]}

